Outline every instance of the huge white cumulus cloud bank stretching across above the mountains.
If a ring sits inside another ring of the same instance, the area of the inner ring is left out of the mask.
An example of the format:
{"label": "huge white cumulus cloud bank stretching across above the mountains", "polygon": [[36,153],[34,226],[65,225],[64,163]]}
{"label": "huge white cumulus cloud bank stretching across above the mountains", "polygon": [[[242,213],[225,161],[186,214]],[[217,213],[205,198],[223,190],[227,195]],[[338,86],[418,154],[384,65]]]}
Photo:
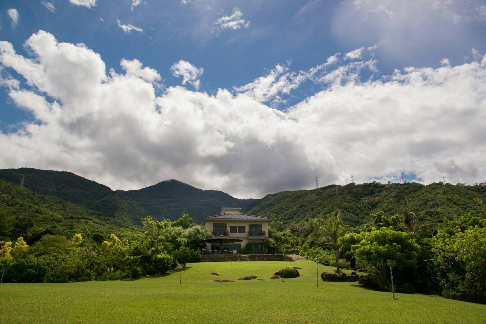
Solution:
{"label": "huge white cumulus cloud bank stretching across above the mountains", "polygon": [[[350,174],[358,183],[395,180],[401,171],[425,183],[484,180],[486,58],[477,51],[462,65],[365,81],[356,74],[373,72],[373,60],[336,54],[295,72],[323,89],[279,111],[256,94],[264,80],[242,93],[170,86],[157,94],[161,76],[136,59],[121,59],[124,73],[106,74],[102,57],[83,44],[39,31],[25,47],[32,57],[0,42],[0,84],[36,120],[0,133],[0,168],[72,171],[121,189],[176,178],[243,198],[312,188],[315,175],[338,184]],[[13,71],[25,82],[7,75]],[[267,89],[293,72],[286,65],[272,73]],[[288,86],[277,88],[282,95]]]}

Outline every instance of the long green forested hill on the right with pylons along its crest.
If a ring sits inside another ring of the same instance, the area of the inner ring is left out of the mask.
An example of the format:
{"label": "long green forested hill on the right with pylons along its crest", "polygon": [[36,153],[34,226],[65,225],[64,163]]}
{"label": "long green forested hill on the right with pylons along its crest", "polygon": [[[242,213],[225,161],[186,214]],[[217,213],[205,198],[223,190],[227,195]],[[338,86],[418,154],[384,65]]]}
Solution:
{"label": "long green forested hill on the right with pylons along its crest", "polygon": [[290,223],[325,217],[340,210],[345,222],[359,225],[369,222],[369,215],[378,210],[383,210],[385,215],[394,215],[401,214],[407,208],[422,222],[429,223],[451,220],[476,211],[474,198],[486,198],[485,184],[464,186],[433,183],[424,186],[417,183],[352,183],[266,195],[246,205],[243,212]]}

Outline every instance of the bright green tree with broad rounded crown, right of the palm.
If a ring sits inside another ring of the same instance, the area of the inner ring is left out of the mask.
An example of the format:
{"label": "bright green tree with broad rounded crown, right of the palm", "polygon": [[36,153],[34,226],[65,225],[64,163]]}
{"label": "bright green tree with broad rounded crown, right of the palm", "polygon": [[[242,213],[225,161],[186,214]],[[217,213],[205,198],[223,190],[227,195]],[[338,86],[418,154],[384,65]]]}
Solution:
{"label": "bright green tree with broad rounded crown, right of the palm", "polygon": [[388,283],[388,266],[413,268],[419,246],[412,233],[395,231],[393,227],[382,227],[372,232],[349,233],[339,239],[342,252],[351,252],[363,258],[378,275],[384,290]]}

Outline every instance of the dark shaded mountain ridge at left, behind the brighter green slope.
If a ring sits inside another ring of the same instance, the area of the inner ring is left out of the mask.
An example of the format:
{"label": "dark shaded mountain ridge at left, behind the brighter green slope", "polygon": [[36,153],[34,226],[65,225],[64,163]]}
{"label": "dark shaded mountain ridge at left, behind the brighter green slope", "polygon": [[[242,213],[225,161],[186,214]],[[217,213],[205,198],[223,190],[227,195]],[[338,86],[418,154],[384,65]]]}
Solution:
{"label": "dark shaded mountain ridge at left, behind the brighter green slope", "polygon": [[32,168],[0,170],[0,179],[19,184],[40,195],[50,195],[97,211],[104,217],[141,224],[148,212],[127,196],[66,171]]}

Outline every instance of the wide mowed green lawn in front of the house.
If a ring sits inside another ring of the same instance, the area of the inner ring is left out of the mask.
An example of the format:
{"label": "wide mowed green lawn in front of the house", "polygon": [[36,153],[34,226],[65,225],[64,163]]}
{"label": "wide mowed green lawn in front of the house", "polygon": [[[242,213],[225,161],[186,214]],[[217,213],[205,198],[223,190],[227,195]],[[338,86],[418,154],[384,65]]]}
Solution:
{"label": "wide mowed green lawn in front of the house", "polygon": [[[284,266],[302,267],[300,277],[270,280]],[[323,271],[332,268],[319,265]],[[245,275],[265,281],[237,280]],[[317,288],[316,265],[307,260],[192,263],[137,280],[4,283],[0,323],[486,323],[486,305],[396,296],[356,283],[319,280]]]}

